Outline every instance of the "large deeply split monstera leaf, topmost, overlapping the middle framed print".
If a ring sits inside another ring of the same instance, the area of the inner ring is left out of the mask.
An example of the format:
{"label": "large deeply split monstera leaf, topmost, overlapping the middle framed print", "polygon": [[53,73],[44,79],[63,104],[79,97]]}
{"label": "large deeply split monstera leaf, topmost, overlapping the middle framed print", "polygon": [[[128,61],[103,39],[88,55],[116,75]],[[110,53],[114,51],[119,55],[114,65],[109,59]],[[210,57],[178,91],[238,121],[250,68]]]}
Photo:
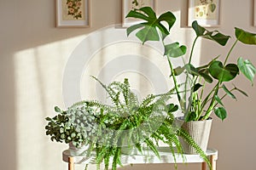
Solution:
{"label": "large deeply split monstera leaf, topmost, overlapping the middle framed print", "polygon": [[[127,36],[131,34],[132,31],[137,31],[136,36],[144,43],[147,41],[159,41],[160,38],[165,39],[169,35],[169,31],[176,21],[174,14],[170,11],[161,14],[159,18],[156,17],[154,10],[150,7],[143,7],[136,10],[131,10],[126,18],[135,18],[143,20],[142,23],[130,26],[127,28]],[[162,25],[161,22],[166,22],[166,26]],[[161,35],[158,34],[157,28],[160,30]],[[169,30],[169,31],[168,31]]]}

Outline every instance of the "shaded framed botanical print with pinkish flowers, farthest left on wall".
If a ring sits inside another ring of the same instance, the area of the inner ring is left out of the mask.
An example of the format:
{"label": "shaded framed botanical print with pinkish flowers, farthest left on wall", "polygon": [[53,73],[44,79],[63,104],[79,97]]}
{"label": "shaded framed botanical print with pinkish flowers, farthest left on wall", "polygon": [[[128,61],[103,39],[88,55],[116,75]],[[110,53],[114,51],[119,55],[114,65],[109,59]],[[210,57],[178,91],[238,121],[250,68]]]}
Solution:
{"label": "shaded framed botanical print with pinkish flowers, farthest left on wall", "polygon": [[57,27],[89,27],[90,0],[55,0]]}

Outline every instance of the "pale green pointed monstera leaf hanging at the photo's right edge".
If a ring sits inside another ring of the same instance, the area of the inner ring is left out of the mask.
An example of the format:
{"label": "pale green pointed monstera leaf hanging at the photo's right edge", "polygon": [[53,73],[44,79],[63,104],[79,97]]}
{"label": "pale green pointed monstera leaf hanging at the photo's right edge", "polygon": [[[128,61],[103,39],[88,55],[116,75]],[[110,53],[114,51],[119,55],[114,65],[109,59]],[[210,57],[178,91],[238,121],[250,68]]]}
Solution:
{"label": "pale green pointed monstera leaf hanging at the photo's right edge", "polygon": [[251,63],[250,60],[248,60],[248,59],[244,60],[241,57],[239,59],[237,59],[237,65],[238,65],[238,68],[241,71],[241,73],[245,77],[247,77],[247,79],[249,81],[251,81],[252,85],[253,85],[253,79],[256,74],[255,66]]}

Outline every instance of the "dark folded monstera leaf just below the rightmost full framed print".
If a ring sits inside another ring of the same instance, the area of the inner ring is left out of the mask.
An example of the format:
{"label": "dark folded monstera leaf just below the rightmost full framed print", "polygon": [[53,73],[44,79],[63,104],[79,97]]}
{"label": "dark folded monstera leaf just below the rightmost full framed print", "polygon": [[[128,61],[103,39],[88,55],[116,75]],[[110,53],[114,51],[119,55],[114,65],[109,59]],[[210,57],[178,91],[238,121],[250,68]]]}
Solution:
{"label": "dark folded monstera leaf just below the rightmost full framed print", "polygon": [[192,27],[197,37],[203,37],[214,42],[218,42],[218,44],[222,46],[226,45],[226,43],[230,39],[230,36],[225,36],[218,31],[207,31],[207,29],[205,29],[204,27],[199,26],[196,20],[193,21]]}

